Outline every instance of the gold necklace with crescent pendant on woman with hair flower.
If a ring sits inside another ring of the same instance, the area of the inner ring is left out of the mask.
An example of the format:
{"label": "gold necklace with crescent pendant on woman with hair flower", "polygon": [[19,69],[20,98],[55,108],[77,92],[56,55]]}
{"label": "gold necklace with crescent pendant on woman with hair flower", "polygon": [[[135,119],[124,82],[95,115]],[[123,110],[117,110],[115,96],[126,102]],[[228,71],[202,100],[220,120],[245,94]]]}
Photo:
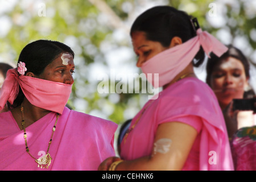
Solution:
{"label": "gold necklace with crescent pendant on woman with hair flower", "polygon": [[26,133],[26,129],[25,129],[23,105],[20,106],[20,111],[22,112],[22,128],[23,128],[23,131],[24,131],[23,137],[24,137],[24,140],[25,140],[26,152],[33,159],[35,159],[35,162],[38,164],[38,167],[47,168],[48,169],[49,165],[51,164],[51,160],[52,160],[51,155],[49,155],[48,152],[49,152],[49,147],[51,146],[51,143],[52,143],[53,133],[55,132],[55,129],[56,129],[56,124],[57,124],[57,121],[58,121],[58,118],[59,118],[59,113],[56,113],[57,114],[56,115],[56,121],[55,121],[55,125],[52,128],[52,135],[51,135],[51,139],[49,140],[49,143],[48,143],[48,149],[47,149],[46,155],[43,156],[43,157],[40,157],[39,159],[36,159],[34,156],[32,156],[30,154],[30,149],[27,146],[27,133]]}

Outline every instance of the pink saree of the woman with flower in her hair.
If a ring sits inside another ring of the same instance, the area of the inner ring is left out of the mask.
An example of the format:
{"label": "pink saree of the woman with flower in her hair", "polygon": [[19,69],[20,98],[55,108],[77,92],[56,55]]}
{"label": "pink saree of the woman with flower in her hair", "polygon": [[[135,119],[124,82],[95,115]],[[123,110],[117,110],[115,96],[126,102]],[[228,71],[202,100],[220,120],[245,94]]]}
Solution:
{"label": "pink saree of the woman with flower in her hair", "polygon": [[[56,113],[51,112],[26,128],[30,153],[40,158],[47,151]],[[25,150],[23,130],[10,111],[0,114],[0,170],[97,170],[100,163],[114,156],[117,124],[92,115],[64,108],[56,125],[48,169],[38,168]]]}

